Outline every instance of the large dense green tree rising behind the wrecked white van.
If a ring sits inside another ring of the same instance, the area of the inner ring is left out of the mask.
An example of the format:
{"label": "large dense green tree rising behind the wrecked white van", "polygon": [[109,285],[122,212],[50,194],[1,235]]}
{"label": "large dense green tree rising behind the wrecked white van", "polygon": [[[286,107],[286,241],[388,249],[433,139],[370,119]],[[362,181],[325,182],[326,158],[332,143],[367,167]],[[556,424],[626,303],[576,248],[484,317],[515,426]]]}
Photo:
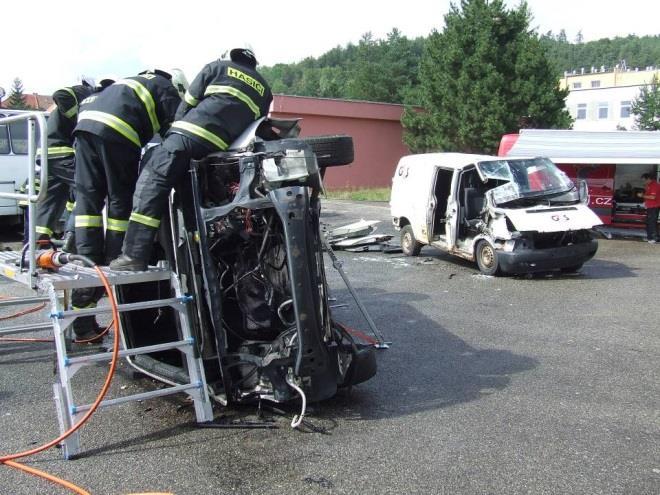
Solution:
{"label": "large dense green tree rising behind the wrecked white van", "polygon": [[419,72],[422,111],[404,112],[404,139],[414,151],[493,153],[500,138],[526,126],[568,128],[556,72],[523,1],[461,0],[443,32],[426,42]]}

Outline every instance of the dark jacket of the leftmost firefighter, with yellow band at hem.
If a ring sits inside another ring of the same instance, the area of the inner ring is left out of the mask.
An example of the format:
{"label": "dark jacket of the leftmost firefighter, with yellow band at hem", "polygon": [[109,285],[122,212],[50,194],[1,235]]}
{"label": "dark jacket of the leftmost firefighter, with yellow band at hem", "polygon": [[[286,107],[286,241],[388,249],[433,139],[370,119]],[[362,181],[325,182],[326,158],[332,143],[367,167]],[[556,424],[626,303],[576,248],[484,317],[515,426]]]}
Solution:
{"label": "dark jacket of the leftmost firefighter, with yellow band at hem", "polygon": [[[48,158],[73,156],[73,130],[80,103],[91,95],[89,86],[77,85],[53,93],[55,109],[48,116]],[[41,150],[38,150],[39,153]]]}

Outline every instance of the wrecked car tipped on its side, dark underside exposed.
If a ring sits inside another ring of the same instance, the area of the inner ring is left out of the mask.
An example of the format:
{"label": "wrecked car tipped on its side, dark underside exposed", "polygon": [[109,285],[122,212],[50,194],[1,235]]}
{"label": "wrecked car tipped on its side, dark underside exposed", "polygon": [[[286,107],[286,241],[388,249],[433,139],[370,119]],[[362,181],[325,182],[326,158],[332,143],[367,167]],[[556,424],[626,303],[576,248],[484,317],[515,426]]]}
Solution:
{"label": "wrecked car tipped on its side, dark underside exposed", "polygon": [[[162,222],[159,253],[194,297],[193,329],[212,395],[222,403],[333,396],[376,372],[373,347],[337,323],[319,225],[324,169],[353,160],[348,136],[296,138],[296,121],[261,119],[226,152],[191,164]],[[124,286],[122,302],[167,284]],[[172,313],[124,313],[127,344],[177,340]],[[135,356],[160,380],[185,383],[179,353]],[[295,385],[296,387],[294,387]]]}

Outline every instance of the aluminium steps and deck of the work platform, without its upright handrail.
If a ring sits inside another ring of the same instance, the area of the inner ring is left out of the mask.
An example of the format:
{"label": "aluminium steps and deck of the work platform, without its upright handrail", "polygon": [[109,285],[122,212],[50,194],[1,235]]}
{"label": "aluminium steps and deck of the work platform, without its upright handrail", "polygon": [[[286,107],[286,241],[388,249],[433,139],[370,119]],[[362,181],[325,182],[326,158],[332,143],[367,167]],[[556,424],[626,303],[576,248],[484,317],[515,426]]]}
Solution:
{"label": "aluminium steps and deck of the work platform, without its upright handrail", "polygon": [[[12,278],[18,282],[29,284],[31,277],[21,271],[16,266],[20,258],[20,253],[0,252],[0,274]],[[174,297],[155,299],[151,301],[141,301],[135,303],[119,304],[117,309],[120,313],[126,311],[135,311],[147,308],[171,307],[179,318],[181,335],[180,340],[166,342],[162,344],[127,348],[121,328],[121,322],[118,325],[119,331],[115,338],[121,338],[122,350],[119,351],[119,357],[131,357],[139,354],[148,354],[171,349],[179,350],[183,355],[188,373],[187,383],[176,383],[168,385],[159,390],[142,392],[133,395],[126,395],[112,399],[105,399],[99,407],[108,407],[123,404],[129,401],[152,399],[177,393],[186,393],[193,401],[195,417],[198,423],[205,423],[213,420],[213,409],[206,387],[206,376],[201,356],[197,352],[195,340],[190,326],[190,316],[188,307],[192,302],[192,296],[183,293],[180,282],[176,274],[165,268],[151,267],[143,272],[116,272],[106,267],[101,268],[106,275],[111,286],[137,284],[143,282],[159,282],[168,280],[174,292]],[[9,276],[11,275],[11,276]],[[71,383],[74,375],[83,367],[99,362],[109,362],[112,359],[111,352],[99,352],[96,354],[69,355],[69,345],[67,339],[71,333],[71,325],[74,320],[81,316],[101,315],[111,312],[109,306],[99,306],[96,308],[71,310],[65,306],[65,299],[60,296],[61,291],[67,293],[72,289],[85,287],[101,287],[102,283],[96,272],[87,267],[69,264],[60,268],[58,272],[38,272],[37,287],[40,292],[45,292],[46,297],[27,297],[21,299],[21,304],[29,302],[44,301],[50,302],[50,322],[31,323],[19,325],[16,327],[4,328],[0,334],[19,333],[35,330],[52,329],[55,349],[57,356],[58,379],[53,384],[55,404],[59,420],[60,433],[64,433],[71,428],[84,413],[89,410],[91,404],[78,404],[74,396],[74,387]],[[16,301],[7,301],[18,304]],[[5,304],[7,305],[7,304]],[[71,436],[62,442],[62,453],[65,459],[71,459],[80,452],[80,433],[74,432]]]}

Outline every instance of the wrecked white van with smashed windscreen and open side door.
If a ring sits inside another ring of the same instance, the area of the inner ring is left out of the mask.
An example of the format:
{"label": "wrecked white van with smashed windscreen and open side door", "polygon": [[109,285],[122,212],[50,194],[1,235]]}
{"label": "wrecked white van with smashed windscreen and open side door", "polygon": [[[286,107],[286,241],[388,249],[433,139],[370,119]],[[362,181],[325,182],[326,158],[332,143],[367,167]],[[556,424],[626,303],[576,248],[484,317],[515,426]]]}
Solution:
{"label": "wrecked white van with smashed windscreen and open side door", "polygon": [[577,271],[602,222],[547,158],[462,153],[404,156],[392,178],[392,222],[409,256],[431,245],[488,275]]}

